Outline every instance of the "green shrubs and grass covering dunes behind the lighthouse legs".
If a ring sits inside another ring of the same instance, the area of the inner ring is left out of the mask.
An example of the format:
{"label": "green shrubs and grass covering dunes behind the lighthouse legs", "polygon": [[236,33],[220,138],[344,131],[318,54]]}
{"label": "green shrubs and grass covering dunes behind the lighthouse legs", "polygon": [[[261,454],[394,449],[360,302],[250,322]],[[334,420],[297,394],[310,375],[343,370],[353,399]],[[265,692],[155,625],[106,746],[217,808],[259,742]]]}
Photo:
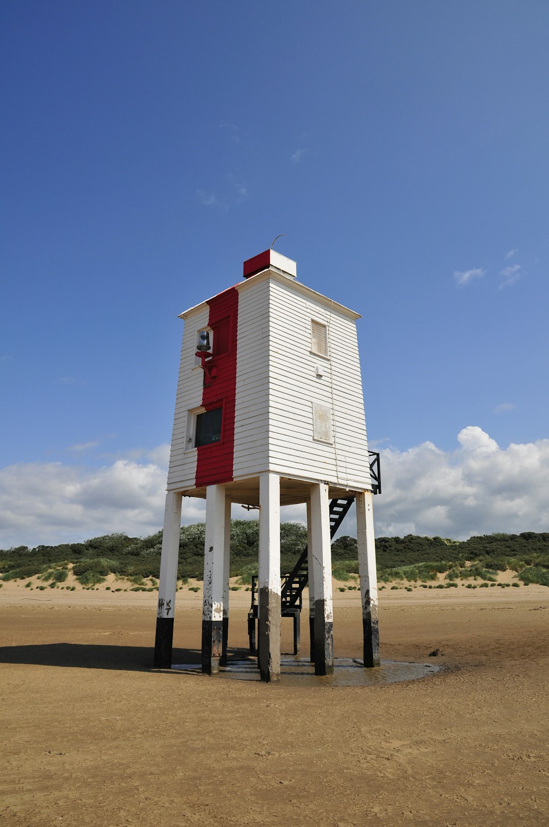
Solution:
{"label": "green shrubs and grass covering dunes behind the lighthouse legs", "polygon": [[[307,543],[301,523],[280,525],[280,565],[291,571]],[[231,575],[249,585],[257,573],[258,523],[232,520]],[[154,588],[160,573],[162,532],[146,538],[107,534],[85,543],[59,546],[20,546],[0,551],[2,580],[37,576],[52,587],[73,574],[85,588],[105,581],[109,574],[131,580],[135,588]],[[183,526],[179,533],[179,579],[203,577],[204,523]],[[458,579],[497,579],[498,571],[512,569],[524,584],[549,586],[549,533],[487,534],[463,542],[441,537],[381,537],[376,540],[378,576],[381,582],[408,581],[426,584],[444,575],[446,585]],[[341,537],[332,543],[334,576],[352,581],[358,573],[356,538]],[[150,582],[146,582],[150,581]],[[38,586],[41,588],[41,586]]]}

